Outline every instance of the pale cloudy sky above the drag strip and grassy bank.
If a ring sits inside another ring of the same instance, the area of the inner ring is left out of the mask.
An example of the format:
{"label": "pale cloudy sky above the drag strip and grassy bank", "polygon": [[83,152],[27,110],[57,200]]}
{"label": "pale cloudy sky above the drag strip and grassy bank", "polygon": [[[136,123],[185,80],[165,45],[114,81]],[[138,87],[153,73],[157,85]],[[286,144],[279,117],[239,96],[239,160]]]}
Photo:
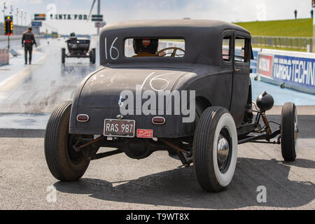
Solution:
{"label": "pale cloudy sky above the drag strip and grassy bank", "polygon": [[[34,13],[88,14],[93,0],[6,0],[0,1],[2,9],[4,2],[8,7],[6,14],[10,12],[11,4],[14,14],[17,7],[26,11],[29,25]],[[286,20],[294,18],[295,9],[297,18],[310,18],[311,0],[101,0],[101,13],[106,23],[181,18],[226,22]],[[94,6],[92,14],[96,13],[97,7]],[[62,20],[44,23],[44,29],[55,29],[59,34],[72,31],[77,34],[96,34],[94,22]]]}

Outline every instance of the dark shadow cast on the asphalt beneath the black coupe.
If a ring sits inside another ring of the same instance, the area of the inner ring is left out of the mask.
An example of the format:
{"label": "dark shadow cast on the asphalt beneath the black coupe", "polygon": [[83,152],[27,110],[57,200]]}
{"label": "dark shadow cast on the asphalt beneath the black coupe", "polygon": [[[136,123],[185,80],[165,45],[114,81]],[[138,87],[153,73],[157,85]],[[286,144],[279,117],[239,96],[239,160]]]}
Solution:
{"label": "dark shadow cast on the asphalt beneath the black coupe", "polygon": [[[55,183],[59,192],[90,195],[104,201],[151,204],[196,209],[241,209],[245,207],[294,208],[315,197],[311,182],[291,181],[290,167],[315,169],[311,160],[283,163],[276,160],[239,158],[235,177],[222,193],[205,193],[195,179],[193,167],[174,169],[116,183],[81,179]],[[118,183],[118,184],[117,184]],[[267,188],[267,203],[257,202],[258,186]]]}

